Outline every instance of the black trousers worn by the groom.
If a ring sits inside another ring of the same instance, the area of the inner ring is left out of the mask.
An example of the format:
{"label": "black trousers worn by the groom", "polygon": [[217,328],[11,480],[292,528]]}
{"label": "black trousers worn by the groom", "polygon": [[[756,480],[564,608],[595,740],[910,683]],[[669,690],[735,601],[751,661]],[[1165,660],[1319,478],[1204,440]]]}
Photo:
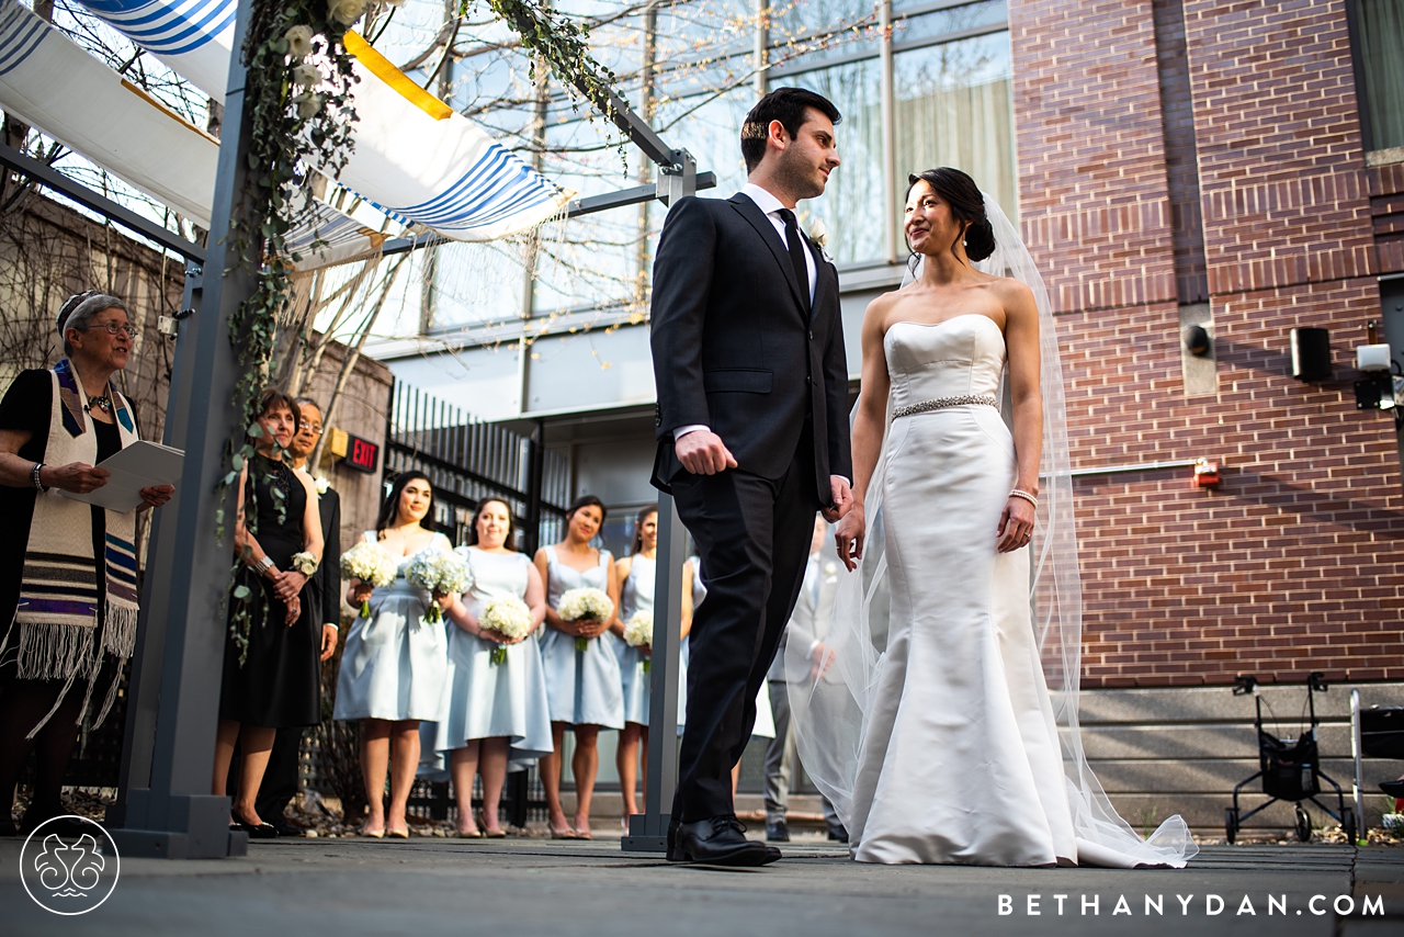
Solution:
{"label": "black trousers worn by the groom", "polygon": [[820,507],[813,433],[806,427],[779,479],[682,471],[673,496],[708,587],[692,617],[687,728],[673,801],[673,819],[694,823],[736,812],[731,767],[751,738],[755,694],[799,598]]}

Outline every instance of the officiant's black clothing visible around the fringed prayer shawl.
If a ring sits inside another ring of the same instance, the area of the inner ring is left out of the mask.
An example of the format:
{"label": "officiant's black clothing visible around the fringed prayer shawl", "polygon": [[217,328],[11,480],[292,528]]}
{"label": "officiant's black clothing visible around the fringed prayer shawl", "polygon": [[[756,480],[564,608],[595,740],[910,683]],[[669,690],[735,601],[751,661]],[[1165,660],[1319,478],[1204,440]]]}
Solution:
{"label": "officiant's black clothing visible around the fringed prayer shawl", "polygon": [[[53,413],[53,376],[51,371],[21,371],[14,384],[0,400],[0,430],[22,430],[29,433],[29,441],[20,447],[18,455],[31,462],[42,462],[49,448],[49,420]],[[93,420],[97,433],[97,461],[122,451],[122,434],[117,423]],[[29,523],[34,520],[34,502],[38,492],[34,486],[10,487],[0,485],[0,641],[14,625],[14,610],[20,604],[20,587],[24,579],[24,553],[29,545]],[[93,555],[102,556],[107,535],[107,513],[93,507]],[[97,572],[97,594],[107,591],[107,565],[94,563]],[[98,631],[101,634],[105,603],[97,603]],[[13,648],[14,641],[6,646]],[[15,657],[4,655],[0,660],[0,680],[14,677]]]}

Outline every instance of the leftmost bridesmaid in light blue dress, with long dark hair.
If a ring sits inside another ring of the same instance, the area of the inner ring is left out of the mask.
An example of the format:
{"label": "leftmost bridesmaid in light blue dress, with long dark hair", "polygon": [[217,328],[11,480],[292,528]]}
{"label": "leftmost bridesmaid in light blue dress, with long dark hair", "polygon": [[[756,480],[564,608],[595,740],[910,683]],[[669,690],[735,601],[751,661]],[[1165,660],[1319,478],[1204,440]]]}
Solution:
{"label": "leftmost bridesmaid in light blue dress, with long dark hair", "polygon": [[[364,719],[361,771],[371,808],[364,836],[407,839],[404,808],[420,763],[420,721],[437,722],[444,700],[448,648],[444,628],[423,621],[431,601],[452,607],[456,596],[434,597],[404,579],[410,559],[425,549],[449,552],[453,544],[430,524],[434,487],[423,472],[402,472],[365,538],[399,561],[392,586],[372,589],[351,580],[347,603],[371,603],[357,618],[341,652],[334,719]],[[385,813],[385,775],[390,774],[390,812]]]}

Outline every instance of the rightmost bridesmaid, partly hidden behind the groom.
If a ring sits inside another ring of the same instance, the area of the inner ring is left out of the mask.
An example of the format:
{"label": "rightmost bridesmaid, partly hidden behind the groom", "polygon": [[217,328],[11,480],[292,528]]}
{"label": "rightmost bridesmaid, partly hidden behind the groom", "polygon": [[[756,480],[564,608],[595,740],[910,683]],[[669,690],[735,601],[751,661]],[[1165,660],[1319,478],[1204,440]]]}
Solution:
{"label": "rightmost bridesmaid, partly hidden behind the groom", "polygon": [[[643,771],[649,764],[649,674],[643,663],[653,653],[650,648],[630,648],[623,639],[623,627],[637,611],[653,612],[653,583],[658,555],[658,506],[650,504],[639,511],[633,525],[633,549],[615,563],[615,579],[619,580],[619,617],[609,627],[615,656],[619,657],[619,676],[623,686],[623,730],[619,733],[619,747],[615,752],[615,766],[619,768],[619,791],[623,794],[623,823],[629,829],[629,815],[639,813],[635,802],[635,784],[639,780],[639,742],[643,742]],[[647,787],[647,774],[643,777]]]}

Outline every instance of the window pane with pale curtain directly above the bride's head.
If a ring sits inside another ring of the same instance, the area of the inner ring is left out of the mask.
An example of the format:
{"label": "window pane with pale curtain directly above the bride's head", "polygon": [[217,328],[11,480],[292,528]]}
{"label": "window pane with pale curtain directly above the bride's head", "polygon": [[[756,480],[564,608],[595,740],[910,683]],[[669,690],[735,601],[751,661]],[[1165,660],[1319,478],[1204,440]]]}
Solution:
{"label": "window pane with pale curtain directly above the bride's head", "polygon": [[1011,79],[1008,32],[894,56],[899,219],[910,173],[953,166],[1018,223]]}

